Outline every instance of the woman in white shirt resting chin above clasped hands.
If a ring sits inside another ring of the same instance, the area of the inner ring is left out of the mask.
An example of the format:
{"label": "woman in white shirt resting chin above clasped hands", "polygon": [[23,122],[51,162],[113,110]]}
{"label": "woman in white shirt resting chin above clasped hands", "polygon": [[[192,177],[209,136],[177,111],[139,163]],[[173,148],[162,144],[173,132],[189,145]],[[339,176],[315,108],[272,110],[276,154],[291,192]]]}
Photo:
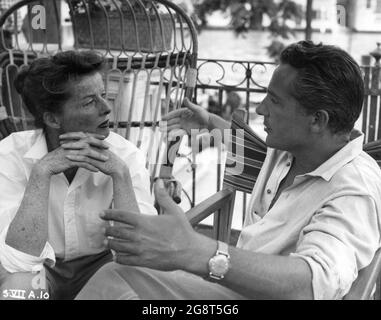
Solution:
{"label": "woman in white shirt resting chin above clasped hands", "polygon": [[0,298],[72,299],[112,258],[99,213],[156,214],[143,154],[109,130],[103,62],[68,51],[16,79],[41,129],[0,142]]}

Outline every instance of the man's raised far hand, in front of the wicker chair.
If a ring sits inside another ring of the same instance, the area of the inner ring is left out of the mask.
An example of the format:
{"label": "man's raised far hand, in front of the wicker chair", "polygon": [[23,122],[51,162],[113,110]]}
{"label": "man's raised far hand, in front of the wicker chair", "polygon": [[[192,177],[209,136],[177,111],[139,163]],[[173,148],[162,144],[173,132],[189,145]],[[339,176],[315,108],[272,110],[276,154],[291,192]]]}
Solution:
{"label": "man's raised far hand, in front of the wicker chair", "polygon": [[183,106],[174,110],[163,117],[160,124],[160,130],[168,133],[171,137],[191,134],[192,129],[207,129],[209,124],[209,112],[204,108],[190,102],[188,98],[184,99]]}

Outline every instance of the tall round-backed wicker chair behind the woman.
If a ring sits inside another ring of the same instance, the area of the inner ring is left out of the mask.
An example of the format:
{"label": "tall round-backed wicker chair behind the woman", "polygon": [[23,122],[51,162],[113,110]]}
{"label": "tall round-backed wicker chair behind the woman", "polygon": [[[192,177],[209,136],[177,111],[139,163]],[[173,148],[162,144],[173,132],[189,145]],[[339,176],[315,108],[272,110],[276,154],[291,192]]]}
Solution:
{"label": "tall round-backed wicker chair behind the woman", "polygon": [[[72,22],[65,30],[64,12]],[[9,17],[15,21],[11,42]],[[197,32],[181,8],[167,0],[22,0],[1,16],[0,34],[0,138],[34,127],[13,87],[22,66],[63,50],[96,50],[108,63],[113,130],[145,152],[152,178],[171,178],[180,142],[168,145],[158,122],[191,98],[196,84]]]}

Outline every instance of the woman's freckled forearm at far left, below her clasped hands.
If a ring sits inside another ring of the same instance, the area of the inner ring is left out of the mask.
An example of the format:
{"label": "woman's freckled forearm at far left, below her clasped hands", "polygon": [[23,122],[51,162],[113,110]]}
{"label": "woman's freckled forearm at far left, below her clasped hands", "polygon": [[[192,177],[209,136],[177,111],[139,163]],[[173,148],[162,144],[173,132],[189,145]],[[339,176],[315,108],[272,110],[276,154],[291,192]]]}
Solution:
{"label": "woman's freckled forearm at far left, below her clasped hands", "polygon": [[32,169],[24,198],[12,220],[5,242],[24,253],[40,256],[48,240],[50,175]]}

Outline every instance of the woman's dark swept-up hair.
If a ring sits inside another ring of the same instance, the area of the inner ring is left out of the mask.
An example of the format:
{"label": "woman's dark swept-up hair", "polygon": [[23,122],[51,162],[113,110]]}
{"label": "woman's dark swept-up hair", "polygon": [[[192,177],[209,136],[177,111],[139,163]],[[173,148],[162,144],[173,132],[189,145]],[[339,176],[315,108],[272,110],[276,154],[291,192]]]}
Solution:
{"label": "woman's dark swept-up hair", "polygon": [[103,68],[104,58],[96,52],[65,51],[34,60],[21,69],[14,85],[34,116],[36,127],[41,128],[45,112],[61,112],[70,97],[70,80],[101,72]]}

